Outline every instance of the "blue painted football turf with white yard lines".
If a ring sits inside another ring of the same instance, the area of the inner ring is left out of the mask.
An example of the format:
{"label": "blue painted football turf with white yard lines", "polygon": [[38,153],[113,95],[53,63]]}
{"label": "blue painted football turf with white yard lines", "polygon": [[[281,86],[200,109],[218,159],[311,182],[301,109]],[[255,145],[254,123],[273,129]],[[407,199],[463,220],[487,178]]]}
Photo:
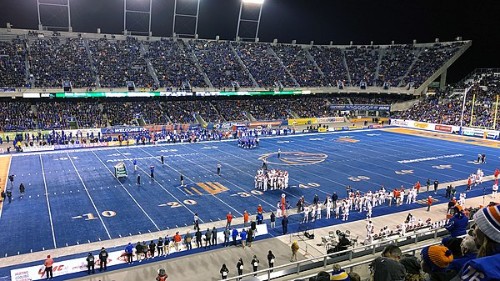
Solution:
{"label": "blue painted football turf with white yard lines", "polygon": [[[339,140],[347,136],[351,142]],[[276,155],[278,149],[282,151],[281,159]],[[252,192],[255,172],[262,165],[259,157],[266,153],[271,154],[269,168],[289,172],[289,189],[264,194]],[[478,153],[487,155],[486,164],[471,163]],[[283,162],[315,162],[319,159],[317,154],[328,157],[309,165]],[[455,154],[463,156],[407,164],[397,162]],[[165,156],[164,165],[160,155]],[[210,222],[225,219],[228,211],[236,217],[242,216],[244,210],[255,214],[258,204],[265,211],[271,211],[275,210],[282,193],[295,206],[302,195],[308,202],[314,194],[321,200],[334,191],[344,196],[348,184],[366,192],[381,185],[388,189],[409,187],[420,180],[425,190],[427,178],[440,182],[466,179],[478,167],[485,175],[491,175],[498,167],[499,156],[495,148],[379,130],[263,138],[261,146],[253,150],[240,149],[235,141],[230,141],[18,155],[12,158],[10,167],[10,173],[16,175],[14,200],[4,204],[0,218],[0,255],[173,230],[191,225],[194,213],[198,213],[203,222]],[[137,159],[137,172],[132,159]],[[119,161],[127,165],[126,179],[117,180],[113,176],[113,166]],[[217,163],[222,164],[221,177],[216,174]],[[155,166],[154,181],[149,178],[150,165]],[[181,173],[187,191],[180,187]],[[140,186],[136,184],[137,175],[142,178]],[[18,198],[21,182],[26,186],[23,199]],[[198,185],[213,182],[227,190],[211,195]],[[490,193],[491,183],[484,185]],[[464,187],[458,188],[457,194],[463,190]],[[482,194],[482,187],[470,196],[474,194]],[[442,195],[437,199],[444,202]],[[424,199],[424,195],[419,199]],[[419,206],[376,207],[374,216]],[[364,215],[352,212],[350,220]],[[300,219],[301,215],[292,216],[290,227],[296,228],[294,224],[298,225]],[[341,221],[323,219],[311,227],[335,223]],[[279,235],[280,231],[276,229],[271,234]]]}

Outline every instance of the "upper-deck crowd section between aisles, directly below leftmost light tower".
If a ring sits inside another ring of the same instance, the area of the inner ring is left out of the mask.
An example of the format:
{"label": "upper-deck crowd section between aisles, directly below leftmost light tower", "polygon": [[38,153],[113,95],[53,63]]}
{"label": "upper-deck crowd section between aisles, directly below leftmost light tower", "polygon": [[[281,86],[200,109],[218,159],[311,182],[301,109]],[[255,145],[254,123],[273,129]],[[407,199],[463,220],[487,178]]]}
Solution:
{"label": "upper-deck crowd section between aisles, directly below leftmost light tower", "polygon": [[62,87],[64,81],[71,81],[75,88],[96,85],[96,76],[81,38],[37,38],[30,42],[28,61],[36,87]]}

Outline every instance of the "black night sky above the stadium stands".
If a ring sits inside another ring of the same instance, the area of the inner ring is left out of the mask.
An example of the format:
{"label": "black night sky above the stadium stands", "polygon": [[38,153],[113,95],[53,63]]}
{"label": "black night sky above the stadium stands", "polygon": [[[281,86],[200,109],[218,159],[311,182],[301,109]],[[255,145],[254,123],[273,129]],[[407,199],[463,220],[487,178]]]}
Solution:
{"label": "black night sky above the stadium stands", "polygon": [[[41,0],[65,2],[65,0]],[[70,0],[75,32],[121,33],[124,0]],[[179,9],[190,12],[192,0],[178,0]],[[174,0],[153,0],[154,36],[172,33]],[[182,4],[184,3],[184,4]],[[239,0],[201,0],[200,38],[235,38]],[[129,7],[145,9],[148,0],[127,0]],[[255,9],[247,9],[246,17]],[[388,44],[472,40],[472,47],[449,69],[448,82],[455,82],[480,67],[500,67],[500,1],[498,0],[266,0],[259,31],[260,41],[317,44]],[[52,8],[41,11],[45,25],[62,25],[65,13]],[[36,29],[36,0],[0,0],[0,25]],[[188,32],[193,23],[184,20],[178,32]],[[147,30],[147,20],[130,15],[128,30]],[[248,34],[252,28],[242,26]],[[250,37],[250,35],[249,35]]]}

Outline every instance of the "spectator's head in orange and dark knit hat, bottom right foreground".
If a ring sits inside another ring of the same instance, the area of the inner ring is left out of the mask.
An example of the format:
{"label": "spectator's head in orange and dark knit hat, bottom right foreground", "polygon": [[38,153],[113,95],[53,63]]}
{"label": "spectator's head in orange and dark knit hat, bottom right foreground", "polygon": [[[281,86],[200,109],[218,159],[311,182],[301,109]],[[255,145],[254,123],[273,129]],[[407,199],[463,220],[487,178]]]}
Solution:
{"label": "spectator's head in orange and dark knit hat, bottom right foreground", "polygon": [[422,270],[428,273],[431,281],[451,280],[457,272],[448,271],[453,254],[443,245],[427,246],[422,249]]}

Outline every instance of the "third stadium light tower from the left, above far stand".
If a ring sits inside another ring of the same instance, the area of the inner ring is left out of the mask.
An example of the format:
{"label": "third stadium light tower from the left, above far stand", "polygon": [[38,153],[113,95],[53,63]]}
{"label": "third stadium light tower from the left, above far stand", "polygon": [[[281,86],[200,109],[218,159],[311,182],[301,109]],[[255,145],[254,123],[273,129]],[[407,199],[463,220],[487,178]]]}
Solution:
{"label": "third stadium light tower from the left, above far stand", "polygon": [[[180,8],[180,3],[182,2],[183,7]],[[194,7],[196,5],[196,7]],[[172,24],[172,37],[175,35],[193,37],[195,38],[198,34],[198,16],[200,14],[200,0],[175,0],[174,2],[174,22]],[[194,19],[194,30],[187,31],[189,28],[185,26],[188,25],[186,22]],[[179,25],[184,26],[183,30],[179,29]],[[177,27],[177,28],[176,28]]]}

